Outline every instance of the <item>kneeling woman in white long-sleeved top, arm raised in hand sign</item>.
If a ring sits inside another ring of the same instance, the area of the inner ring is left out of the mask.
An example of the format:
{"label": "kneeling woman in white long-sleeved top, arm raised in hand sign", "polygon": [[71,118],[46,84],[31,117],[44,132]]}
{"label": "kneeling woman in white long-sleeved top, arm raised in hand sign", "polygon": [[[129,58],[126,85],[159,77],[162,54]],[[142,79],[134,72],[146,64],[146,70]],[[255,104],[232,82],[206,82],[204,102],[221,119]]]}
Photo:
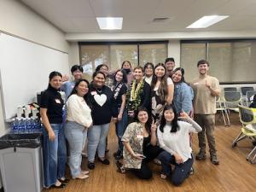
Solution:
{"label": "kneeling woman in white long-sleeved top, arm raised in hand sign", "polygon": [[[174,106],[166,105],[157,130],[160,148],[164,149],[158,156],[162,165],[161,177],[170,177],[174,185],[180,185],[189,177],[194,161],[189,133],[201,131],[201,126],[189,118],[187,113],[182,111],[179,119],[187,122],[177,120]],[[175,166],[173,171],[171,164]]]}

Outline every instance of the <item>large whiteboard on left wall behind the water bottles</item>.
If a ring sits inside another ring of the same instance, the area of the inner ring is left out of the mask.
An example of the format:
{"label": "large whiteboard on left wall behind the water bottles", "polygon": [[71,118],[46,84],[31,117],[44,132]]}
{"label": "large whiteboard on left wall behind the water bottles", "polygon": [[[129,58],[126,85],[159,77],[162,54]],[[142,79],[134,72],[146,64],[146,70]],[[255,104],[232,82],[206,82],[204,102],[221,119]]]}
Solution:
{"label": "large whiteboard on left wall behind the water bottles", "polygon": [[37,92],[47,88],[52,71],[68,74],[67,53],[0,33],[4,119],[14,117],[17,106],[35,102]]}

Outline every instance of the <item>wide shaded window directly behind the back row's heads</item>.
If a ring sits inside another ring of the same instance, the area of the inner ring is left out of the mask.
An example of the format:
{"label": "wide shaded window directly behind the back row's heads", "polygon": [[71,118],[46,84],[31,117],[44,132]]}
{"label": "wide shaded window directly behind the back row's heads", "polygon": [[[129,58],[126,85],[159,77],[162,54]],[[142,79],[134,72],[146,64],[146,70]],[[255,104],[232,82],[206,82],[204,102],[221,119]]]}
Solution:
{"label": "wide shaded window directly behind the back row's heads", "polygon": [[96,67],[107,63],[111,71],[121,67],[123,61],[130,61],[132,67],[146,62],[164,62],[167,57],[167,41],[125,42],[125,43],[79,43],[80,63],[84,78],[91,79]]}

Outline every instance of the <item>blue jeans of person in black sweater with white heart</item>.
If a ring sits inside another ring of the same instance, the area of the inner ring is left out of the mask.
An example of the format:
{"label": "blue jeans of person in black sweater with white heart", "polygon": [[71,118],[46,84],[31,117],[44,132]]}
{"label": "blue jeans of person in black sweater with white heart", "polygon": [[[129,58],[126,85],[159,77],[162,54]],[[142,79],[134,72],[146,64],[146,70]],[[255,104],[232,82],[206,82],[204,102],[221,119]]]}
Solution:
{"label": "blue jeans of person in black sweater with white heart", "polygon": [[108,136],[109,124],[93,125],[88,130],[88,161],[94,162],[96,150],[99,158],[105,157],[106,137]]}

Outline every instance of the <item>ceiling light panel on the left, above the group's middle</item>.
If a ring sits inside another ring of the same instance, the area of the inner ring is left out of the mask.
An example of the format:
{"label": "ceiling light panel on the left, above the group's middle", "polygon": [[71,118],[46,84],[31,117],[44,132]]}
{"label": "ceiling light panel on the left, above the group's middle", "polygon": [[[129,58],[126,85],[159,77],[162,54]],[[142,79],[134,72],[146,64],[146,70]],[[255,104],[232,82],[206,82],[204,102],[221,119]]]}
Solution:
{"label": "ceiling light panel on the left, above the group's middle", "polygon": [[96,20],[102,30],[122,29],[123,17],[96,17]]}

